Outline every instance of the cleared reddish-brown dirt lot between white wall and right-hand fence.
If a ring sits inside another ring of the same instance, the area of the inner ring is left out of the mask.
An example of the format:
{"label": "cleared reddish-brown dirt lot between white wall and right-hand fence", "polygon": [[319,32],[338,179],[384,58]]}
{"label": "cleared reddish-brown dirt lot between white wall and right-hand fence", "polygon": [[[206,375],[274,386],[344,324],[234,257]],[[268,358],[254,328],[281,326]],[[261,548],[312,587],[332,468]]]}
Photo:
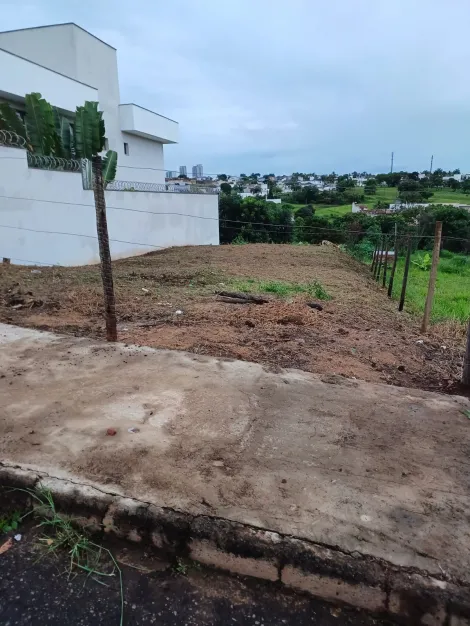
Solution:
{"label": "cleared reddish-brown dirt lot between white wall and right-hand fence", "polygon": [[[247,278],[317,280],[332,299],[322,311],[306,305],[318,301],[307,293],[271,294],[263,305],[217,300]],[[336,248],[172,248],[116,261],[114,279],[122,341],[462,393],[463,329],[421,337],[419,320],[399,314],[367,268]],[[0,268],[0,321],[102,337],[102,311],[96,266]]]}

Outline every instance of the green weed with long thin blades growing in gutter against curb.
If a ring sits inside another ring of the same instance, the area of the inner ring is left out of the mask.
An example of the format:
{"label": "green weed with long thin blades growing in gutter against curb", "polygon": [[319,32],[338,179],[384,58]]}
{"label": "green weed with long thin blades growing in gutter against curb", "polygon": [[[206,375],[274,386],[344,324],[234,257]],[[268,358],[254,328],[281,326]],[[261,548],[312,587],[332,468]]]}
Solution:
{"label": "green weed with long thin blades growing in gutter against curb", "polygon": [[112,553],[103,546],[93,542],[83,529],[79,529],[73,518],[59,513],[49,489],[18,489],[31,496],[34,500],[33,514],[39,518],[39,527],[48,531],[39,539],[46,547],[47,553],[54,554],[58,550],[66,550],[69,554],[69,576],[75,570],[87,573],[97,583],[105,585],[103,578],[119,577],[121,594],[121,619],[124,621],[124,592],[122,571]]}

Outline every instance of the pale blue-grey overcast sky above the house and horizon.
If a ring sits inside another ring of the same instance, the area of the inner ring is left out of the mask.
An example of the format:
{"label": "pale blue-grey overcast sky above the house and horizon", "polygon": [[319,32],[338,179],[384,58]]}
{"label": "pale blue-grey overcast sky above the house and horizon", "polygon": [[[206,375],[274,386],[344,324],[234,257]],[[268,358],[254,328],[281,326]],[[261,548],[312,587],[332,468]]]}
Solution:
{"label": "pale blue-grey overcast sky above the house and horizon", "polygon": [[[118,50],[122,102],[180,124],[207,173],[470,171],[469,0],[2,0]],[[1,82],[1,77],[0,77]]]}

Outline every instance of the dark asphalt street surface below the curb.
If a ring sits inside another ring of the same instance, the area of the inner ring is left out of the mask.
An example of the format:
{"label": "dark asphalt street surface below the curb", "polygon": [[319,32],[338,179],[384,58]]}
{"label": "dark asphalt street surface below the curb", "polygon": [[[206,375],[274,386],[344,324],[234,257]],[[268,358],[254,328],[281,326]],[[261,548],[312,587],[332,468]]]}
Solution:
{"label": "dark asphalt street surface below the curb", "polygon": [[[0,554],[0,623],[3,626],[119,624],[117,579],[98,584],[85,574],[68,577],[68,558],[43,556],[37,531]],[[0,546],[6,537],[0,539]],[[114,546],[124,581],[124,624],[159,626],[389,626],[365,613],[332,607],[275,585],[169,563]],[[38,560],[39,558],[39,560]],[[122,565],[122,560],[130,566]],[[144,568],[146,572],[136,568]],[[111,582],[110,582],[111,581]]]}

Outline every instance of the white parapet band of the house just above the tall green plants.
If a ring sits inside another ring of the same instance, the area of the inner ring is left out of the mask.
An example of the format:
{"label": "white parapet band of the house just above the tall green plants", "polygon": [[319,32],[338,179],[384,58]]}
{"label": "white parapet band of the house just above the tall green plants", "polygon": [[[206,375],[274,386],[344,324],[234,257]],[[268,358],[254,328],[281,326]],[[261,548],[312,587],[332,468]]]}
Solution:
{"label": "white parapet band of the house just above the tall green plants", "polygon": [[25,94],[35,91],[59,109],[75,113],[85,100],[98,99],[97,89],[1,49],[0,76],[0,96],[6,100],[23,102]]}

